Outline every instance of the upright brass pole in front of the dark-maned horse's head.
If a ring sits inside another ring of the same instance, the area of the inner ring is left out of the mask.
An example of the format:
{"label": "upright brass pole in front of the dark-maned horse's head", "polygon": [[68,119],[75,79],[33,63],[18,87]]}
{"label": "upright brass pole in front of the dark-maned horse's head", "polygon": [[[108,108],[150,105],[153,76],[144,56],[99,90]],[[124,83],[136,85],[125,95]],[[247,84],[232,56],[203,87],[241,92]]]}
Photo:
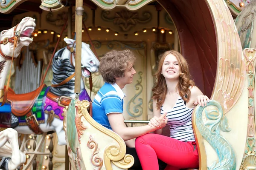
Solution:
{"label": "upright brass pole in front of the dark-maned horse's head", "polygon": [[82,24],[83,24],[83,0],[76,0],[76,78],[75,93],[80,93],[81,84],[81,47],[82,47]]}

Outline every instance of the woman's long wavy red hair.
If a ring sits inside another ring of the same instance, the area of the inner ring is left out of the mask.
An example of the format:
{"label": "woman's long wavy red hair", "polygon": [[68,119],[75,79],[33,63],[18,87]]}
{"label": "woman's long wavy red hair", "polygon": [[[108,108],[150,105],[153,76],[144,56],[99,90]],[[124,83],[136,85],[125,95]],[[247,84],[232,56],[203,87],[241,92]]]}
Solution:
{"label": "woman's long wavy red hair", "polygon": [[[184,101],[189,101],[190,98],[190,86],[194,86],[194,81],[190,80],[191,76],[189,74],[189,65],[186,59],[179,53],[173,50],[169,50],[163,53],[162,58],[158,64],[155,86],[153,87],[153,99],[157,99],[157,109],[163,105],[164,99],[167,94],[167,85],[164,76],[162,75],[163,62],[167,55],[172,54],[177,58],[178,64],[180,66],[180,78],[176,86],[176,89],[179,91],[180,96]],[[185,97],[186,96],[186,97]]]}

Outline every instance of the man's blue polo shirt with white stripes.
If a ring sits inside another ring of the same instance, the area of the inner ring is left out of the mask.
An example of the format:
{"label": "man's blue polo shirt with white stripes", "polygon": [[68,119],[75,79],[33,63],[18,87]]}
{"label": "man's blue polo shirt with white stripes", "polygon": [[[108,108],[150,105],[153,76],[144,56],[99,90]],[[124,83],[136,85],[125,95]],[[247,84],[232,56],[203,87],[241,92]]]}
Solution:
{"label": "man's blue polo shirt with white stripes", "polygon": [[102,126],[111,129],[109,113],[123,113],[124,92],[115,84],[105,83],[93,100],[93,119]]}

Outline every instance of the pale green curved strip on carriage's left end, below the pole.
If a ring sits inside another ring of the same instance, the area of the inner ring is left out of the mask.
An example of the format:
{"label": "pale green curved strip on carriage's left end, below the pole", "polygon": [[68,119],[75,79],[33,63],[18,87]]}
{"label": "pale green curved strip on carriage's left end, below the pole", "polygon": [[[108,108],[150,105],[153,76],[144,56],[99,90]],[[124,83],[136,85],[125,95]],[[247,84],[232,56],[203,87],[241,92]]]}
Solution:
{"label": "pale green curved strip on carriage's left end, below the pole", "polygon": [[73,99],[70,102],[70,105],[67,109],[67,139],[70,149],[73,153],[76,153],[75,141],[76,141],[76,107],[75,100]]}

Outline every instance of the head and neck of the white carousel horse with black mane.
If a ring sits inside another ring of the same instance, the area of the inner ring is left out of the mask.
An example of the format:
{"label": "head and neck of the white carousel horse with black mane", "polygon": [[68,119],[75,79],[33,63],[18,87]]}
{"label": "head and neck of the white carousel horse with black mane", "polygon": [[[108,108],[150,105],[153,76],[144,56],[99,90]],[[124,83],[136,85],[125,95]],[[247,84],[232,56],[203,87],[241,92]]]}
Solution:
{"label": "head and neck of the white carousel horse with black mane", "polygon": [[[67,46],[58,50],[55,53],[54,59],[52,60],[52,84],[61,84],[62,81],[67,80],[75,72],[76,66],[76,41],[64,38]],[[90,72],[97,72],[99,68],[99,60],[90,50],[90,46],[86,43],[82,43],[81,48],[81,72],[82,76],[90,77]],[[81,81],[81,91],[85,88],[84,81]],[[72,78],[70,81],[60,86],[52,86],[51,91],[55,95],[65,95],[72,97],[75,95],[75,79]],[[84,99],[83,99],[84,100]]]}

